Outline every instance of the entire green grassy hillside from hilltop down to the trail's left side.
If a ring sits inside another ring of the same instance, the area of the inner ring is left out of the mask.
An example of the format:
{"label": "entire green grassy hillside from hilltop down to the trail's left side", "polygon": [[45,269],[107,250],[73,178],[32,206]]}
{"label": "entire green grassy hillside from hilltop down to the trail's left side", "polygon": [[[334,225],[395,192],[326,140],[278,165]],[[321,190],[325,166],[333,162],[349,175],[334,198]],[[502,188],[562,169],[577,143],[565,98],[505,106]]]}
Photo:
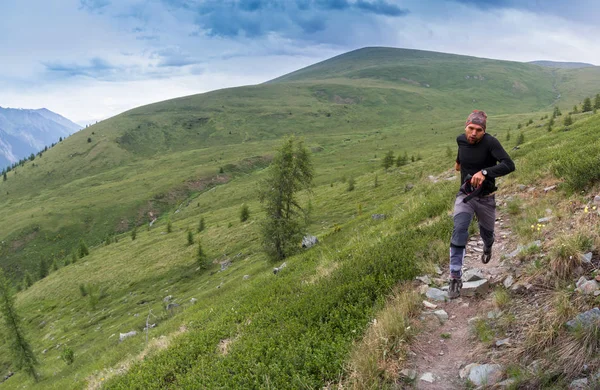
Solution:
{"label": "entire green grassy hillside from hilltop down to the trail's left side", "polygon": [[[558,175],[543,153],[528,156],[536,145],[563,143],[556,153],[568,154],[579,133],[559,131],[559,124],[547,132],[540,118],[558,93],[565,112],[594,95],[594,75],[594,68],[552,71],[369,48],[263,85],[140,107],[69,137],[0,182],[2,267],[16,281],[25,271],[37,279],[42,258],[59,267],[17,299],[40,356],[40,386],[100,384],[122,366],[130,374],[109,387],[312,388],[335,381],[390,289],[445,262],[457,185],[445,179],[454,175],[454,139],[470,110],[488,112],[489,132],[507,149],[522,125],[525,143],[513,155],[535,169],[515,177]],[[575,119],[586,137],[598,122],[590,114]],[[309,231],[321,244],[288,259],[275,277],[279,264],[260,250],[256,183],[288,134],[301,135],[312,150]],[[384,172],[390,150],[415,161]],[[354,191],[347,190],[350,178]],[[241,223],[244,203],[251,218]],[[388,219],[373,221],[373,213]],[[197,232],[202,217],[207,228]],[[213,261],[208,270],[197,267],[188,231]],[[118,242],[106,245],[107,236]],[[63,266],[81,238],[91,254]],[[231,266],[221,271],[226,261]],[[178,309],[165,310],[167,295]],[[118,342],[119,333],[141,332],[148,316],[158,324],[148,345],[140,335]],[[65,346],[75,351],[72,365],[60,359]],[[146,355],[153,357],[139,363]],[[3,386],[24,383],[17,373]]]}

